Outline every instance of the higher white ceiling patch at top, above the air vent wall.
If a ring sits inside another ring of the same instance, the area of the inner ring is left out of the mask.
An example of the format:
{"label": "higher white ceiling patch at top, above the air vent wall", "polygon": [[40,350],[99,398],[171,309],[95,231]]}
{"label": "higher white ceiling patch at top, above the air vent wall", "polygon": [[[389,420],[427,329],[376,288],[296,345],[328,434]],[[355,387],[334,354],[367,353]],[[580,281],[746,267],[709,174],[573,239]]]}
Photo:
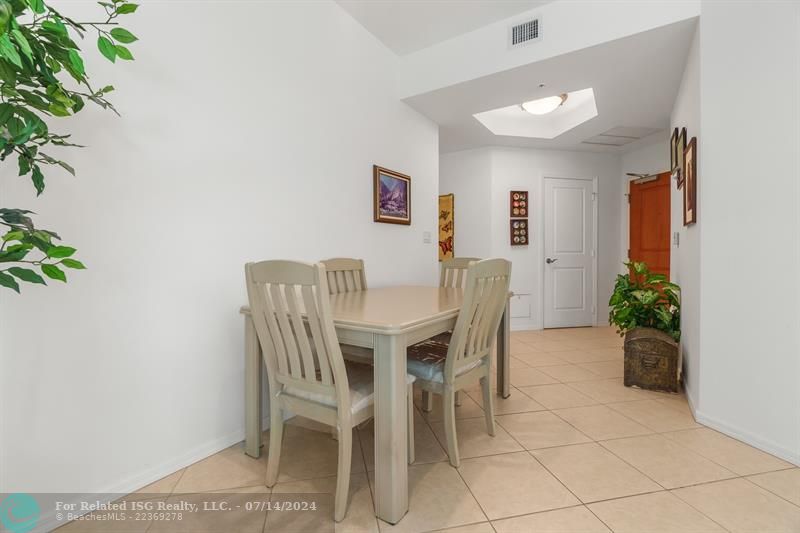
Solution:
{"label": "higher white ceiling patch at top, above the air vent wall", "polygon": [[398,55],[513,17],[550,0],[336,0]]}

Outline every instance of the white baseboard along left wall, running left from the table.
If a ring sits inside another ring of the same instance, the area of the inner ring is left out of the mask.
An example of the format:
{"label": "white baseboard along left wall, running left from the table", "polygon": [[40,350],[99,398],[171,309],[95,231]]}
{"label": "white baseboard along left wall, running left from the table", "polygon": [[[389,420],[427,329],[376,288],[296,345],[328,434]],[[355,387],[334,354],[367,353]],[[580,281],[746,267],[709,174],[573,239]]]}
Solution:
{"label": "white baseboard along left wall, running left from the table", "polygon": [[[269,417],[261,420],[261,427],[269,427]],[[137,490],[146,487],[147,485],[158,481],[159,479],[167,477],[168,475],[173,474],[182,468],[186,468],[187,466],[190,466],[198,461],[202,461],[203,459],[206,459],[207,457],[210,457],[215,453],[224,450],[225,448],[229,448],[230,446],[233,446],[242,440],[244,440],[244,428],[196,446],[188,452],[180,454],[168,461],[164,461],[153,468],[149,468],[143,472],[140,472],[139,474],[133,475],[119,483],[109,485],[104,490],[97,491],[93,494],[76,494],[76,499],[74,501],[71,501],[66,497],[67,495],[65,495],[63,501],[64,503],[79,503],[81,501],[89,500],[99,501],[101,503],[109,503],[116,499],[118,497],[117,495],[119,494],[130,494],[132,492],[136,492]],[[37,531],[51,531],[56,527],[61,527],[63,525],[64,522],[59,522],[56,520],[55,510],[50,510],[49,512],[42,514],[41,519],[37,524]]]}

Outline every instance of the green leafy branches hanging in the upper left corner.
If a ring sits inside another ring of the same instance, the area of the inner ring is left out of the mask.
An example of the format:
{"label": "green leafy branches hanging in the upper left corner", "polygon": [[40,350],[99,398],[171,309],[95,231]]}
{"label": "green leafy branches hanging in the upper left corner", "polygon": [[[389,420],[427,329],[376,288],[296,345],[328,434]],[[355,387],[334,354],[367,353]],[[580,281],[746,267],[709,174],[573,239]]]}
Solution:
{"label": "green leafy branches hanging in the upper left corner", "polygon": [[[95,88],[90,82],[75,39],[96,34],[97,48],[109,61],[133,60],[125,45],[137,38],[120,27],[118,18],[136,12],[138,4],[98,4],[101,20],[77,22],[44,0],[0,0],[0,162],[15,157],[19,175],[30,176],[37,196],[45,188],[43,168],[55,165],[75,175],[71,165],[45,150],[80,147],[69,134],[51,131],[49,123],[80,112],[87,102],[116,113],[106,99],[114,88]],[[60,240],[57,233],[34,227],[31,214],[0,208],[0,226],[6,230],[0,243],[0,286],[17,292],[19,281],[66,281],[61,267],[85,268],[71,257],[74,248],[54,243]]]}

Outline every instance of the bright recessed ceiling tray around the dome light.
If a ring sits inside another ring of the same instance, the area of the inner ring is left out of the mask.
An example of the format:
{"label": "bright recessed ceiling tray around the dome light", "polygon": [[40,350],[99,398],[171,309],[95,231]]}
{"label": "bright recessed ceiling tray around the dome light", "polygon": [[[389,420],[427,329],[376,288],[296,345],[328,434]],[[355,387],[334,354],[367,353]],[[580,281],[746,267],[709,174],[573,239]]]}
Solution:
{"label": "bright recessed ceiling tray around the dome light", "polygon": [[476,113],[475,118],[495,135],[553,139],[597,116],[594,91],[567,93],[567,99],[546,115],[532,115],[519,104]]}

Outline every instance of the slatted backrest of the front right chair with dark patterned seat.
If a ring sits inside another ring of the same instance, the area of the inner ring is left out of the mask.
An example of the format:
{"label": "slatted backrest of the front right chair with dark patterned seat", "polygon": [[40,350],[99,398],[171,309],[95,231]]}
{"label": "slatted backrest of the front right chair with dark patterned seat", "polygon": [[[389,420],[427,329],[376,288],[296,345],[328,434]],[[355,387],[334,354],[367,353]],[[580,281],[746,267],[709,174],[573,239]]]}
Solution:
{"label": "slatted backrest of the front right chair with dark patterned seat", "polygon": [[505,259],[486,259],[468,267],[464,301],[447,351],[445,382],[451,382],[459,368],[491,355],[510,281],[511,263]]}

